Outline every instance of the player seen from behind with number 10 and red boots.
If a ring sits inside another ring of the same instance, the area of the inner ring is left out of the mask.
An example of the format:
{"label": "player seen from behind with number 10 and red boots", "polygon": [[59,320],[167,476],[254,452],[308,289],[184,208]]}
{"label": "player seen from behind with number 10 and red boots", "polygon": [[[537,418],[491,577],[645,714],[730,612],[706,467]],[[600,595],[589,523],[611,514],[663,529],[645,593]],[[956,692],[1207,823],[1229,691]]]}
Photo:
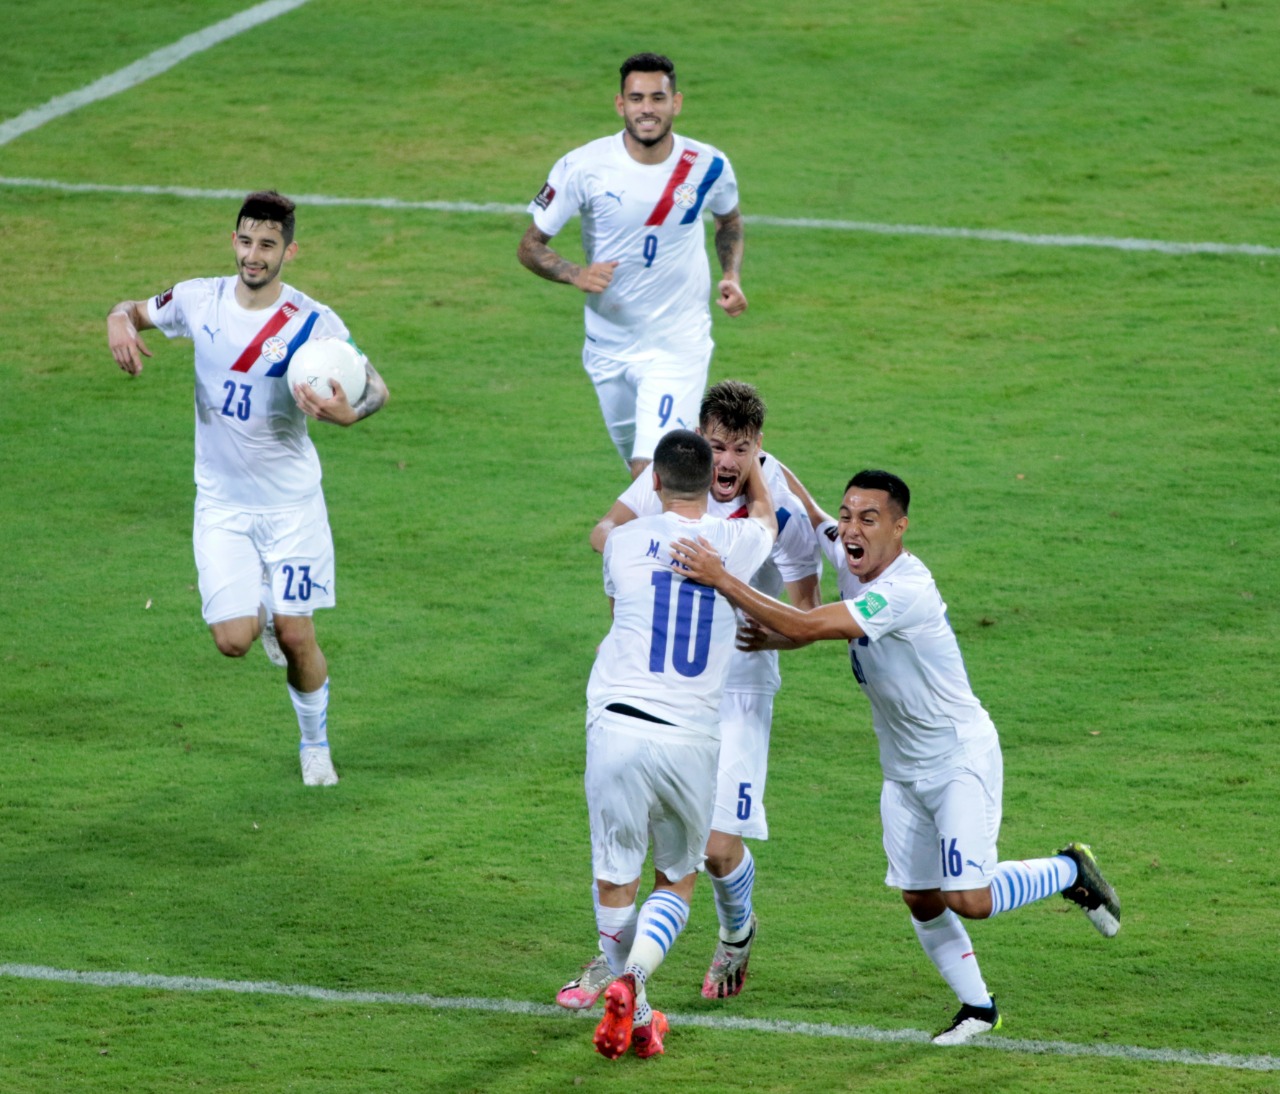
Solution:
{"label": "player seen from behind with number 10 and red boots", "polygon": [[[777,532],[758,463],[746,484],[748,519],[707,516],[712,450],[695,432],[663,436],[652,475],[662,512],[628,522],[604,545],[613,624],[586,688],[595,921],[617,975],[594,1040],[611,1059],[632,1044],[640,1057],[663,1052],[667,1020],[649,1006],[645,984],[689,919],[710,829],[719,701],[737,630],[730,604],[689,581],[672,564],[669,545],[701,536],[731,573],[750,577]],[[650,841],[654,887],[636,911]]]}

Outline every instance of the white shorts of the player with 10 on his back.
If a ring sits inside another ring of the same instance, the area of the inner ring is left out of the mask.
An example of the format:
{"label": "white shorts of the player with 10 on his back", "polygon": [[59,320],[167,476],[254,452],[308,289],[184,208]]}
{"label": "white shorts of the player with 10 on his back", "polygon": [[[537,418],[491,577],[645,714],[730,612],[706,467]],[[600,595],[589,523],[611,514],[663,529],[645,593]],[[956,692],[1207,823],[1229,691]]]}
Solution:
{"label": "white shorts of the player with 10 on his back", "polygon": [[594,876],[626,885],[653,865],[671,882],[704,860],[719,742],[603,711],[586,724],[586,811]]}

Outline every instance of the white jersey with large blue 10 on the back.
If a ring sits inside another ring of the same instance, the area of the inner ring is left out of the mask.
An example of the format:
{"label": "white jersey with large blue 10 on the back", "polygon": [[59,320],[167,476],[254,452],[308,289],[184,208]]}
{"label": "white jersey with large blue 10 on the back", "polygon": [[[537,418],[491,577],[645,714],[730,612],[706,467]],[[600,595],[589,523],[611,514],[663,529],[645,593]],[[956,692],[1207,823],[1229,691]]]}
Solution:
{"label": "white jersey with large blue 10 on the back", "polygon": [[[586,687],[593,717],[621,702],[681,731],[719,738],[737,619],[723,596],[689,581],[672,563],[671,543],[698,536],[714,544],[728,572],[744,580],[769,554],[769,534],[756,521],[695,521],[675,513],[640,517],[605,543],[604,591],[613,598],[613,626]],[[663,729],[644,725],[659,736]]]}

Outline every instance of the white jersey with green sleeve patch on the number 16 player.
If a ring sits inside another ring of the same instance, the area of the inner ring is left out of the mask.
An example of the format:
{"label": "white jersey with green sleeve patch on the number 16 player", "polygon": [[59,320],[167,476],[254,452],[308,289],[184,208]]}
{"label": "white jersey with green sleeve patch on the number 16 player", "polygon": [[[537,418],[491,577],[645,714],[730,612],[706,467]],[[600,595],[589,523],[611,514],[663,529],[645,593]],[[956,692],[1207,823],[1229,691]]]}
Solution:
{"label": "white jersey with green sleeve patch on the number 16 player", "polygon": [[864,585],[849,572],[835,521],[818,528],[818,543],[836,568],[841,600],[867,636],[849,644],[849,658],[872,704],[884,778],[929,778],[996,745],[996,727],[969,686],[928,567],[902,551]]}

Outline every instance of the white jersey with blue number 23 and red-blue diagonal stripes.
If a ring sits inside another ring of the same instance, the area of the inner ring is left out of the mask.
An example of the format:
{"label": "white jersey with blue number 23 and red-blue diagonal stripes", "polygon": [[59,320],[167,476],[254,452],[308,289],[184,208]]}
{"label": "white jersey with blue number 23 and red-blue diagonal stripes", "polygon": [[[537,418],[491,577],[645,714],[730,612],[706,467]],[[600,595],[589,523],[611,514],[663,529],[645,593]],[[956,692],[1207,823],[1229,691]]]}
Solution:
{"label": "white jersey with blue number 23 and red-blue diagonal stripes", "polygon": [[297,505],[320,489],[320,458],[285,370],[308,338],[348,338],[328,307],[282,284],[250,311],[236,278],[179,281],[147,302],[168,338],[196,347],[197,496],[246,511]]}

